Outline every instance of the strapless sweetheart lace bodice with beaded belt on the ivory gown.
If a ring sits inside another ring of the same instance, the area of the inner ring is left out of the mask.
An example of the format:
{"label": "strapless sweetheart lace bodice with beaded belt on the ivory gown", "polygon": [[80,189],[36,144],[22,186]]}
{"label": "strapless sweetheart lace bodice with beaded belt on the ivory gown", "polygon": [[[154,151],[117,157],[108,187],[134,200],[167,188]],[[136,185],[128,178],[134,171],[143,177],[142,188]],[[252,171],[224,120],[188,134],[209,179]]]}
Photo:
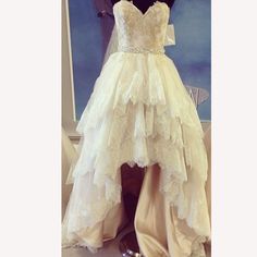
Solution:
{"label": "strapless sweetheart lace bodice with beaded belt on the ivory gown", "polygon": [[113,7],[120,51],[163,53],[170,9],[156,1],[143,13],[133,2]]}

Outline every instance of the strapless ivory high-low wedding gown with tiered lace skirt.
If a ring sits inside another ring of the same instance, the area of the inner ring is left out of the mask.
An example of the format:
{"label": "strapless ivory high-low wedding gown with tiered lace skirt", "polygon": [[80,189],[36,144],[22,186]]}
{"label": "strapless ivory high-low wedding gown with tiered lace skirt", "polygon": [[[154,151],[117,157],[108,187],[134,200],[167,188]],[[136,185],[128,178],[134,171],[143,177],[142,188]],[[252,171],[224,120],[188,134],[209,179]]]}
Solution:
{"label": "strapless ivory high-low wedding gown with tiered lace skirt", "polygon": [[208,237],[204,132],[173,61],[164,54],[170,9],[157,1],[142,13],[122,0],[113,12],[119,48],[105,63],[77,125],[82,139],[63,245],[101,246],[90,243],[88,231],[121,204],[123,163],[158,163],[158,191],[175,208],[176,219],[197,240]]}

